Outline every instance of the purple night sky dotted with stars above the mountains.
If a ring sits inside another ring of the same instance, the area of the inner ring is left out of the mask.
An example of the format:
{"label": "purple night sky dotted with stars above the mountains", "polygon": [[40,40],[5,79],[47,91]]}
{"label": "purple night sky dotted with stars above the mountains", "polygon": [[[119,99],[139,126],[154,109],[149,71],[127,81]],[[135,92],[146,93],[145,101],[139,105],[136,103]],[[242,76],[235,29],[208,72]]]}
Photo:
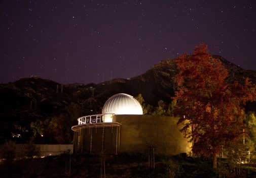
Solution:
{"label": "purple night sky dotted with stars above the mountains", "polygon": [[204,42],[256,70],[256,1],[0,1],[0,82],[62,84],[143,74]]}

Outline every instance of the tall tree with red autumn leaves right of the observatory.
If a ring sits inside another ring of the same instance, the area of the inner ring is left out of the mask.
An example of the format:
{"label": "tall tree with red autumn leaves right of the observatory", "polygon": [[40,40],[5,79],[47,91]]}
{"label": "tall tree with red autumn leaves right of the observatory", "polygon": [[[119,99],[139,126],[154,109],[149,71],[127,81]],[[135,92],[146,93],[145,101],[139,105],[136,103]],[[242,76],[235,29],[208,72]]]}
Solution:
{"label": "tall tree with red autumn leaves right of the observatory", "polygon": [[184,126],[181,132],[193,142],[193,153],[212,156],[216,168],[216,153],[243,133],[243,106],[254,99],[255,88],[248,79],[244,85],[227,83],[227,70],[208,53],[205,44],[175,62],[179,70],[174,97],[177,124]]}

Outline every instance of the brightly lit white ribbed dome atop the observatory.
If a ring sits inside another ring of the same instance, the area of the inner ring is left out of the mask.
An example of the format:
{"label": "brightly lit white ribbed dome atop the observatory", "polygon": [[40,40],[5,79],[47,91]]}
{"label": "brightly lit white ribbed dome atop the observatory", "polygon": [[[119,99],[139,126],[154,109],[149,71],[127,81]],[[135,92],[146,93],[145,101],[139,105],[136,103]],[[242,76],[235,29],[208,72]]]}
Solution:
{"label": "brightly lit white ribbed dome atop the observatory", "polygon": [[108,98],[103,106],[102,114],[143,114],[143,110],[133,96],[119,93]]}

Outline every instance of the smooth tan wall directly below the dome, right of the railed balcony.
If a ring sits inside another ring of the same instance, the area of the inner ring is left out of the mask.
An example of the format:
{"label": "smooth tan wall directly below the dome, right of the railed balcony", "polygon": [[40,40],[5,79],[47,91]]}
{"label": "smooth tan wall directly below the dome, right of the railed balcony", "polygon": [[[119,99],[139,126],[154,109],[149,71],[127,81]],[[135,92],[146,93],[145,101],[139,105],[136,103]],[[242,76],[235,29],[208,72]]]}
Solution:
{"label": "smooth tan wall directly below the dome, right of the railed balcony", "polygon": [[121,123],[120,152],[143,153],[154,147],[156,153],[189,153],[192,144],[176,125],[178,118],[156,115],[114,115]]}

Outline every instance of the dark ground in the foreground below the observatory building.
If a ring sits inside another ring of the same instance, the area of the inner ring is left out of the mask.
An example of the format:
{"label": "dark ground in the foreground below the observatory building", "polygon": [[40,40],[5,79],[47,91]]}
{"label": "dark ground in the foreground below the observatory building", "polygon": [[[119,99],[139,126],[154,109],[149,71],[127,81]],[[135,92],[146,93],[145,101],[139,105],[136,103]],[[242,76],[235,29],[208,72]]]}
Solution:
{"label": "dark ground in the foreground below the observatory building", "polygon": [[[156,155],[155,168],[154,159],[151,160],[149,167],[147,154],[63,154],[45,158],[26,158],[2,161],[0,177],[104,177],[104,162],[105,177],[224,177],[218,170],[211,169],[211,161],[202,158]],[[225,177],[232,177],[232,171],[229,172],[226,166],[223,167],[226,171]],[[238,177],[256,177],[253,164],[243,165]]]}

